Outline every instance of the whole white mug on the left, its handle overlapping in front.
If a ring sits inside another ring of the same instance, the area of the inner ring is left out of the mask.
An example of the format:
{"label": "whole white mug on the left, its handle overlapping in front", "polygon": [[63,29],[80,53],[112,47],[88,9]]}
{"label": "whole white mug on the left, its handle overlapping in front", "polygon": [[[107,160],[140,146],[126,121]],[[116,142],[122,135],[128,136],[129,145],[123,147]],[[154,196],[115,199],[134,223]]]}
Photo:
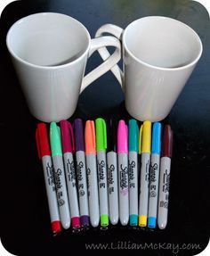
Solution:
{"label": "whole white mug on the left, its handle overlapping in front", "polygon": [[[6,45],[30,112],[45,122],[69,119],[79,93],[120,60],[116,37],[91,39],[83,24],[55,12],[36,13],[15,22]],[[116,50],[84,78],[87,58],[102,46]]]}

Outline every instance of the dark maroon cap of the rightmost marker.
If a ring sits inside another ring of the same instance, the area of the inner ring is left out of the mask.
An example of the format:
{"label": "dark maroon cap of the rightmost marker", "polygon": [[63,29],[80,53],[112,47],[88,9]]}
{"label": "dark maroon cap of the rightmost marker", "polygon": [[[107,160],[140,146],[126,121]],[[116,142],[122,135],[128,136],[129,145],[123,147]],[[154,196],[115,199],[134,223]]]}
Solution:
{"label": "dark maroon cap of the rightmost marker", "polygon": [[164,128],[161,156],[162,157],[167,156],[169,158],[172,158],[172,152],[173,152],[173,130],[171,129],[170,125],[166,125]]}

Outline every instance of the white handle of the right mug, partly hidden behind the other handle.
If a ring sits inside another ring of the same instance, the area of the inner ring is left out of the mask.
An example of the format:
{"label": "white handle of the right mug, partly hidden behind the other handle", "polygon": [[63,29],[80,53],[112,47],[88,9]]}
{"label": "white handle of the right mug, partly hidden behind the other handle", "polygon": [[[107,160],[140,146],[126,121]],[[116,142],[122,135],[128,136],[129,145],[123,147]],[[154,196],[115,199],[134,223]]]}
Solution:
{"label": "white handle of the right mug, partly hidden behind the other handle", "polygon": [[[105,25],[101,26],[101,28],[96,31],[95,37],[101,37],[103,33],[109,33],[109,34],[113,35],[114,37],[117,37],[117,39],[119,39],[120,41],[122,41],[123,32],[124,32],[124,29],[121,29],[120,27],[118,27],[116,25],[105,24]],[[106,47],[100,48],[98,50],[98,52],[101,55],[101,58],[103,59],[103,61],[107,60],[110,56],[109,51],[107,50]],[[123,71],[119,68],[118,65],[115,65],[114,67],[112,67],[111,71],[117,78],[120,86],[122,87],[122,90],[125,91]]]}

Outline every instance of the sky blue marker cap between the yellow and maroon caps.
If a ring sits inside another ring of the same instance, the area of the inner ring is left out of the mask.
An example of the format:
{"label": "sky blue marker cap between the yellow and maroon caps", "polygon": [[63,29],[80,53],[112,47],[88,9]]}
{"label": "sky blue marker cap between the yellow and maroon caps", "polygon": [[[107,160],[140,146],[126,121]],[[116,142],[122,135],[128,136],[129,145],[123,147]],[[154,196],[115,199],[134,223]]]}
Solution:
{"label": "sky blue marker cap between the yellow and maroon caps", "polygon": [[151,153],[160,154],[161,151],[161,123],[155,122],[152,127]]}

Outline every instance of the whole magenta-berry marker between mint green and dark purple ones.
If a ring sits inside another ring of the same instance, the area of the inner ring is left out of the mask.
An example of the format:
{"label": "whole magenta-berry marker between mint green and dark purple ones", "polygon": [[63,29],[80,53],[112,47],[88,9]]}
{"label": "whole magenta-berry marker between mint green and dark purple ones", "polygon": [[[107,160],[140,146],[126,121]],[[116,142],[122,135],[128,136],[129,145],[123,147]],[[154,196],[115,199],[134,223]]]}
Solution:
{"label": "whole magenta-berry marker between mint green and dark purple ones", "polygon": [[66,182],[69,195],[69,207],[71,213],[71,223],[74,230],[78,230],[80,227],[78,198],[77,198],[77,183],[75,164],[73,154],[75,153],[75,143],[73,128],[69,121],[61,120],[61,140],[62,140],[62,152],[64,159],[64,167],[66,174]]}

